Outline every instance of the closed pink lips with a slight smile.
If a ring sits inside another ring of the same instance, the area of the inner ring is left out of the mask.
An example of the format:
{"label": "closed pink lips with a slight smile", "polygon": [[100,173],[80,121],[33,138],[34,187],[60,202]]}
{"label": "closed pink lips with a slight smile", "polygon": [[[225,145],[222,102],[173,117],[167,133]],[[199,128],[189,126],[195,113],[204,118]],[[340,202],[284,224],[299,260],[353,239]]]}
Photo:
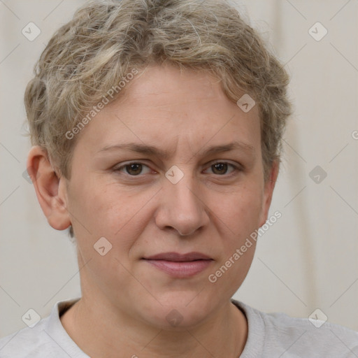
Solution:
{"label": "closed pink lips with a slight smile", "polygon": [[189,278],[204,271],[214,261],[201,252],[164,252],[150,257],[143,257],[145,262],[155,266],[168,275],[175,278]]}

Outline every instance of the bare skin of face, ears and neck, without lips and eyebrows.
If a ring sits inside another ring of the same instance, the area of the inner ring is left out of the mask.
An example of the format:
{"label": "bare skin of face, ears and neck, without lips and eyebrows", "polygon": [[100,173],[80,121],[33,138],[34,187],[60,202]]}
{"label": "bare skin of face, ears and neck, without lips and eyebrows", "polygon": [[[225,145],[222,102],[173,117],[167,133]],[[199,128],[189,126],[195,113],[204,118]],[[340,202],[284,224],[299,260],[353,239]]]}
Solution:
{"label": "bare skin of face, ears and neck, without lips and eyebrows", "polygon": [[[268,217],[278,164],[264,182],[258,108],[244,113],[206,71],[169,65],[147,67],[125,90],[78,134],[70,180],[55,175],[41,148],[29,152],[48,222],[57,230],[72,224],[78,243],[82,298],[62,325],[90,357],[238,357],[248,323],[230,299],[255,244],[217,282],[208,275]],[[231,141],[252,149],[205,154]],[[101,151],[129,142],[155,145],[168,157]],[[118,170],[129,162],[142,171]],[[184,174],[176,184],[165,176],[173,165]],[[112,244],[104,256],[94,250],[101,237]],[[192,251],[213,261],[190,278],[142,259]],[[174,309],[182,317],[176,327],[166,320]]]}

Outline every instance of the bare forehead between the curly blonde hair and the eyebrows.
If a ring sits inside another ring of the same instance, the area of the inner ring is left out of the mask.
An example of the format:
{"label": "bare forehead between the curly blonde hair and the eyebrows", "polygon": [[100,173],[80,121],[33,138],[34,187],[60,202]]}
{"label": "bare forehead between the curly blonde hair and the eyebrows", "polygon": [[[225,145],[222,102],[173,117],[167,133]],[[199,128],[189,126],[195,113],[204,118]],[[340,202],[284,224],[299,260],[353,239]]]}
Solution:
{"label": "bare forehead between the curly blonde hair and the eyebrows", "polygon": [[87,125],[81,141],[94,152],[111,145],[138,143],[175,152],[206,144],[240,141],[260,147],[257,106],[244,113],[231,101],[220,80],[208,71],[148,66]]}

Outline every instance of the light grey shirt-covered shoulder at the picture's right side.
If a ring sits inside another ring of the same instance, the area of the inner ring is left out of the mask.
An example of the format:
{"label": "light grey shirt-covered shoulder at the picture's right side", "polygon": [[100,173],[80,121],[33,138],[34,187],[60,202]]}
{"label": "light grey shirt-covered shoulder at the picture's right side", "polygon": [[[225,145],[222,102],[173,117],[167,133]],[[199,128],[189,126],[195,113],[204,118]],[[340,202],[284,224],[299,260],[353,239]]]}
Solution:
{"label": "light grey shirt-covered shoulder at the picture's right side", "polygon": [[[264,313],[232,300],[248,318],[247,345],[259,342],[262,355],[285,357],[358,357],[358,332],[285,313]],[[244,356],[245,357],[245,356]]]}

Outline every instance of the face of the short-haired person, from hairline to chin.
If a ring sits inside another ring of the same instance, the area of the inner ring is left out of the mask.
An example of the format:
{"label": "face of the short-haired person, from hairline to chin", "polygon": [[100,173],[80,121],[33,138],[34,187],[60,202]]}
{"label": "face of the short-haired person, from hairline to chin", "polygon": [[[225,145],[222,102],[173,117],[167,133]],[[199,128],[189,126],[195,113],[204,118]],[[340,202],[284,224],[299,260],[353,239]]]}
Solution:
{"label": "face of the short-haired person, from hairline to chin", "polygon": [[83,296],[157,327],[176,309],[189,327],[236,292],[255,243],[215,272],[267,218],[258,108],[244,113],[213,76],[171,66],[126,90],[78,135],[61,182]]}

